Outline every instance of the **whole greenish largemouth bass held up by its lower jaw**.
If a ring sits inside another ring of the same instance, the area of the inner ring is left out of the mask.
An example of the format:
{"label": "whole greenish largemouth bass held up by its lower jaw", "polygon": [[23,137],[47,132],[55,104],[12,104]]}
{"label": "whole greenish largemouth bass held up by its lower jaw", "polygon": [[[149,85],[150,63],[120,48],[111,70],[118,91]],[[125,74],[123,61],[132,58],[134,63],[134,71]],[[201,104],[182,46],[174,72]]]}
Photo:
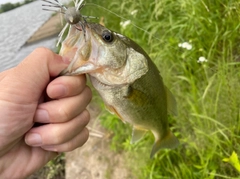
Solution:
{"label": "whole greenish largemouth bass held up by its lower jaw", "polygon": [[61,74],[88,74],[107,109],[132,124],[132,143],[152,131],[151,157],[159,149],[177,147],[168,124],[168,113],[177,114],[176,101],[147,53],[100,24],[88,23],[84,33],[70,28],[60,55],[71,63]]}

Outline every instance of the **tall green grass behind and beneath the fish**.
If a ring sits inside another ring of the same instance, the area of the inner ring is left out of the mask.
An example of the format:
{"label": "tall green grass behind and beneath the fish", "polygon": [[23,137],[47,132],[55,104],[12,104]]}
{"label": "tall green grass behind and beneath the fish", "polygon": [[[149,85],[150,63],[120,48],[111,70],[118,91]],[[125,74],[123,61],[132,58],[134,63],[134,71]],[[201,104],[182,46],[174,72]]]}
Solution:
{"label": "tall green grass behind and beneath the fish", "polygon": [[[130,126],[110,114],[102,116],[103,125],[115,134],[112,148],[123,153],[137,178],[240,178],[233,165],[222,161],[233,151],[240,156],[240,2],[88,2],[123,17],[94,5],[84,12],[104,17],[109,29],[143,47],[178,102],[179,114],[169,120],[181,145],[176,150],[160,151],[152,160],[151,134],[131,145]],[[121,26],[126,19],[131,24]],[[179,47],[183,42],[192,48]],[[200,57],[207,61],[198,62]]]}

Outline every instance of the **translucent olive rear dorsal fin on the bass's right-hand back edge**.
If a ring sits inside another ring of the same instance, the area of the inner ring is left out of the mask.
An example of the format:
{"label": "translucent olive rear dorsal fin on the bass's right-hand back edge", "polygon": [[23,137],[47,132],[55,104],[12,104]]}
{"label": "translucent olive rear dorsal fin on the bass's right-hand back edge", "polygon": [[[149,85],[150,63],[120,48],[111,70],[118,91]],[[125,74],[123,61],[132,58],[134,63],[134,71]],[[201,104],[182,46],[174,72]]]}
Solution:
{"label": "translucent olive rear dorsal fin on the bass's right-hand back edge", "polygon": [[169,114],[177,116],[177,102],[171,93],[171,91],[165,86],[165,91],[167,95],[167,110]]}

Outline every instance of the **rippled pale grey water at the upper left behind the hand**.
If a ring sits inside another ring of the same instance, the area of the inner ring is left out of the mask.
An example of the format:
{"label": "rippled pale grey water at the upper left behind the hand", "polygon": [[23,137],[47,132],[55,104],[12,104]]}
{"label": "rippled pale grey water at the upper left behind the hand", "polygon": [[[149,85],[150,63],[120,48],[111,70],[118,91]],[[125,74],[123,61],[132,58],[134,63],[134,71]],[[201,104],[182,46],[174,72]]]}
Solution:
{"label": "rippled pale grey water at the upper left behind the hand", "polygon": [[0,72],[16,66],[36,47],[55,48],[56,37],[24,46],[52,15],[42,4],[35,1],[0,14]]}

